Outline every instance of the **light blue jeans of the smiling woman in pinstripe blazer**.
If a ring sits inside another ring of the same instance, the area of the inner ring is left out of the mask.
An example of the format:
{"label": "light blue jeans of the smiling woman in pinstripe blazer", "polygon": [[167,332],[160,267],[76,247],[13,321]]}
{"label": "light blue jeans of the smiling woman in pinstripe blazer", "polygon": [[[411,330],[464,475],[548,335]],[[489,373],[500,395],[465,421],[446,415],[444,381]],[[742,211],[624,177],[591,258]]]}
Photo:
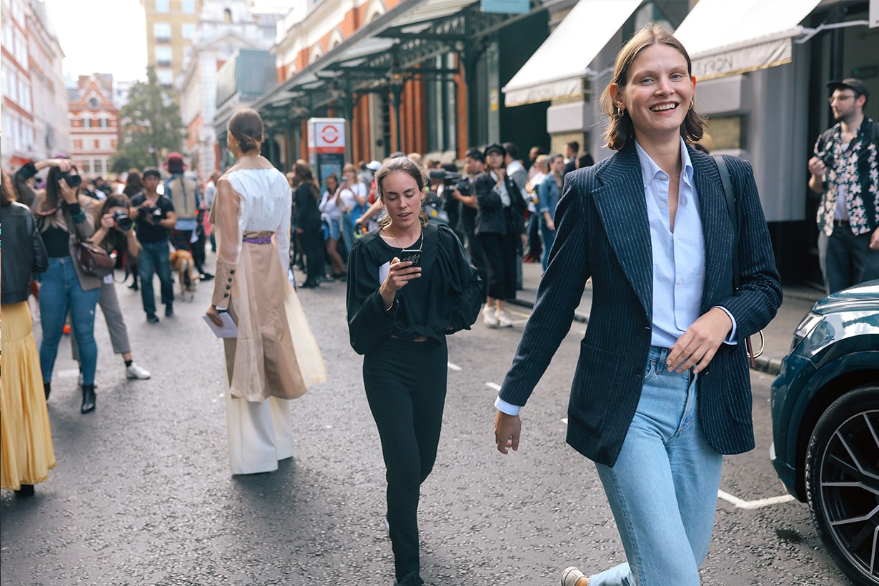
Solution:
{"label": "light blue jeans of the smiling woman in pinstripe blazer", "polygon": [[665,370],[650,347],[641,400],[613,467],[596,464],[628,563],[589,586],[698,586],[708,553],[723,456],[702,434],[692,371]]}

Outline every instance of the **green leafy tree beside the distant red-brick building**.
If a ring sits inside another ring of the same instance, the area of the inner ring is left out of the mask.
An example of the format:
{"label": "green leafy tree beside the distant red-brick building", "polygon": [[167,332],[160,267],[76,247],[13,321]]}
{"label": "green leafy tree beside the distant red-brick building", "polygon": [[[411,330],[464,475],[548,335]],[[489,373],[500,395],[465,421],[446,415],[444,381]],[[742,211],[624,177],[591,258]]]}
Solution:
{"label": "green leafy tree beside the distant red-brick building", "polygon": [[188,133],[180,105],[163,90],[156,70],[147,68],[147,81],[131,86],[128,102],[119,112],[120,143],[111,161],[116,173],[162,163],[163,153],[180,150]]}

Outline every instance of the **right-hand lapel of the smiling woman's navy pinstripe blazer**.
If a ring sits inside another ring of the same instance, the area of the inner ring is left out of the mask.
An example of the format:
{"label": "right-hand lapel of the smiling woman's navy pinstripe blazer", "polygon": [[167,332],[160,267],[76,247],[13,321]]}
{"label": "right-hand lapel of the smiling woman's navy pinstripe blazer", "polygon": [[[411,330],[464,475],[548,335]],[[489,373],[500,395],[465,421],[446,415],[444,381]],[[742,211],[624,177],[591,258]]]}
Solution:
{"label": "right-hand lapel of the smiling woman's navy pinstripe blazer", "polygon": [[[701,313],[727,297],[732,287],[732,222],[726,207],[720,173],[714,160],[690,149],[694,183],[699,198],[702,235],[705,238],[705,283]],[[730,177],[731,179],[731,177]]]}

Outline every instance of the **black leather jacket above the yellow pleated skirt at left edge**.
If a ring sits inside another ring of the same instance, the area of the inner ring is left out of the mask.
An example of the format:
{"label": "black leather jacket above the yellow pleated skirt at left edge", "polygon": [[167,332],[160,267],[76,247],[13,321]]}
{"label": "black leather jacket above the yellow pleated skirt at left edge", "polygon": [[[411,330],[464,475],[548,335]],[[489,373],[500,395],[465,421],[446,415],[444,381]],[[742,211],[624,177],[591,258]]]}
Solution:
{"label": "black leather jacket above the yellow pleated skirt at left edge", "polygon": [[27,300],[30,293],[31,277],[34,272],[45,272],[49,268],[49,258],[43,239],[37,232],[31,208],[12,202],[0,208],[0,223],[3,224],[3,244],[7,254],[3,257],[0,302],[20,303]]}

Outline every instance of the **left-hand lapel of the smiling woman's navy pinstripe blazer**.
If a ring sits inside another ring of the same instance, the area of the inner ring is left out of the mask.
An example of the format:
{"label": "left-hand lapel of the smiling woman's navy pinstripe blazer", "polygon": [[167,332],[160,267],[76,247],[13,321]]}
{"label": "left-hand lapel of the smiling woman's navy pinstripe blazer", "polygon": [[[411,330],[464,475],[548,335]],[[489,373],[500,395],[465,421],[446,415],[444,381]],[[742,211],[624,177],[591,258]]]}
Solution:
{"label": "left-hand lapel of the smiling woman's navy pinstripe blazer", "polygon": [[607,239],[644,313],[652,319],[653,252],[641,164],[634,143],[616,153],[596,172],[601,186],[593,192]]}

